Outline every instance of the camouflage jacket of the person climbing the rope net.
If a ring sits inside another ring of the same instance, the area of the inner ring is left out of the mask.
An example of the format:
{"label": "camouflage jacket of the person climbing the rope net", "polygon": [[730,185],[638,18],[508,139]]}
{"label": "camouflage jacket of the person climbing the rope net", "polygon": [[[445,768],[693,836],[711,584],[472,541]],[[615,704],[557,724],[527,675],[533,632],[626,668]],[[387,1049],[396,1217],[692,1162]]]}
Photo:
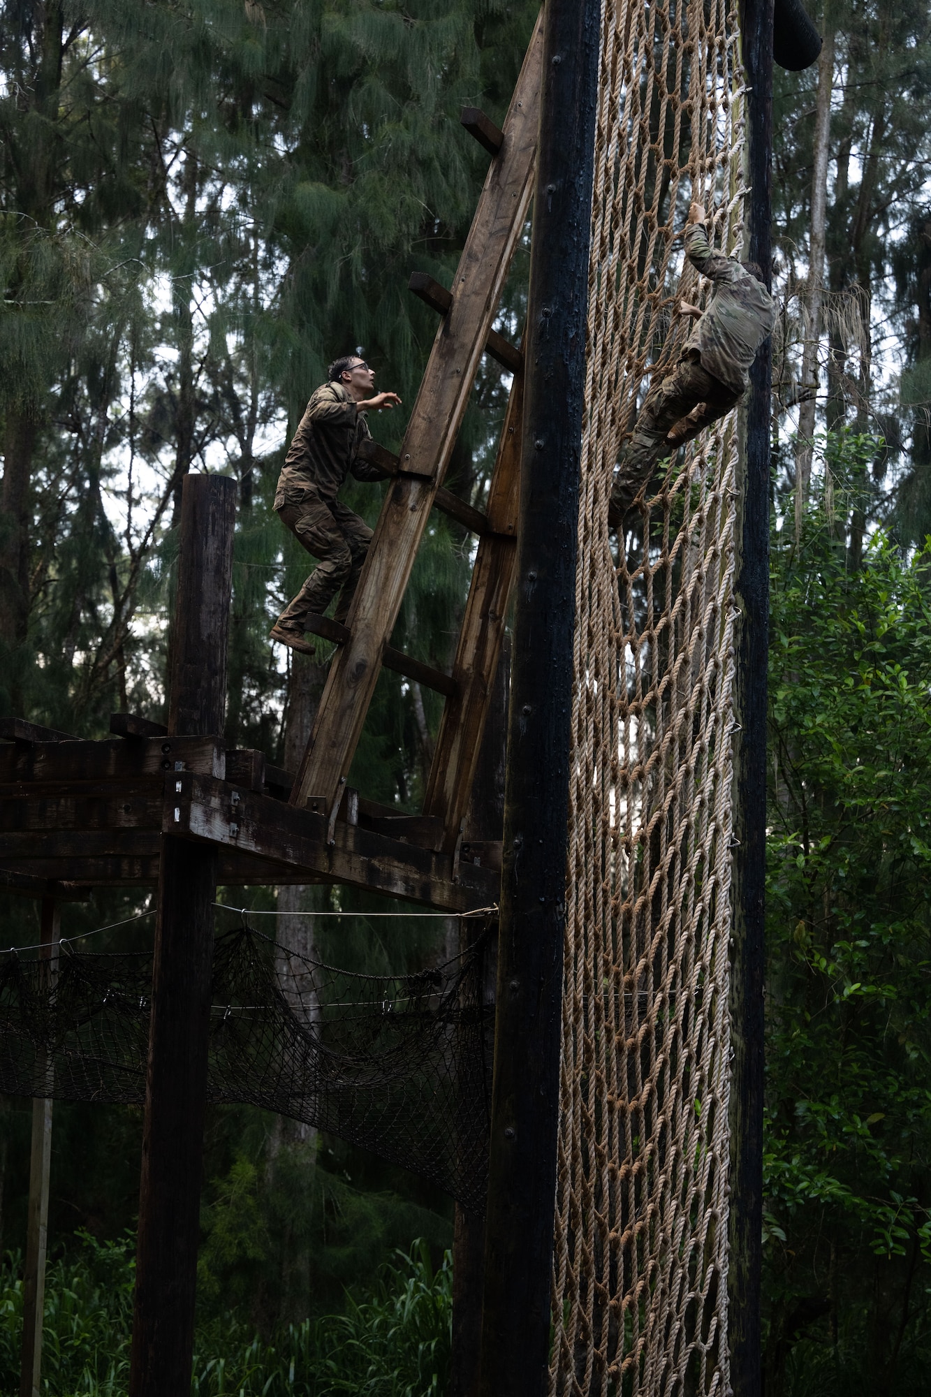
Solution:
{"label": "camouflage jacket of the person climbing the rope net", "polygon": [[735,257],[712,250],[700,224],[686,228],[685,251],[692,265],[714,282],[707,310],[685,348],[698,349],[709,373],[742,393],[756,351],[776,324],[776,302]]}

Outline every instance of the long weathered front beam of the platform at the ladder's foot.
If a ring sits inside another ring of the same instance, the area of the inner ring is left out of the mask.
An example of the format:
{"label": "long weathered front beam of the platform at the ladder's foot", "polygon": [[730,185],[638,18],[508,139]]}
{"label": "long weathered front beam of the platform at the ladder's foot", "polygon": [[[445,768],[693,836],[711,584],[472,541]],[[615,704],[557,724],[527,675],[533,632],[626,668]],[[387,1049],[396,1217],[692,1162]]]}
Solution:
{"label": "long weathered front beam of the platform at the ladder's foot", "polygon": [[[175,791],[182,785],[180,793]],[[468,863],[453,876],[453,861],[435,849],[337,821],[327,841],[327,813],[295,809],[271,796],[233,792],[222,781],[187,775],[168,782],[165,828],[240,852],[288,863],[331,883],[403,897],[452,912],[489,907],[498,875]]]}

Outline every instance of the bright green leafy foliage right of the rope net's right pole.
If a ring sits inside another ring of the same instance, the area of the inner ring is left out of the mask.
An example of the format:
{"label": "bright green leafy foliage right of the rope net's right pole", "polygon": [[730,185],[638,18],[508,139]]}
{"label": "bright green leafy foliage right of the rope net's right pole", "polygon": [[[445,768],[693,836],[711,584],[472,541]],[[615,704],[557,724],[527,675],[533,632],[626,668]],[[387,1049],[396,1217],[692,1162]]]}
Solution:
{"label": "bright green leafy foliage right of the rope net's right pole", "polygon": [[868,1363],[882,1390],[928,1355],[930,584],[931,541],[906,556],[882,531],[850,571],[823,497],[802,548],[774,550],[766,1192],[777,1390],[787,1348],[821,1315],[853,1343],[856,1316],[869,1313],[846,1361]]}

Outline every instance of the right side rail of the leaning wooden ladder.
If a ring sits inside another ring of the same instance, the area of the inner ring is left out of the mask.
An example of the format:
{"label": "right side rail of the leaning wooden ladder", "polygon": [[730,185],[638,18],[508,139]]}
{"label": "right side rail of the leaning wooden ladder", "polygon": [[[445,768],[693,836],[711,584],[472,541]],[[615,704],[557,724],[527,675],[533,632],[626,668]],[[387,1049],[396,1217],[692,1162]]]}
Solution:
{"label": "right side rail of the leaning wooden ladder", "polygon": [[447,854],[456,848],[468,809],[517,567],[523,381],[523,374],[514,376],[492,475],[489,510],[498,532],[482,538],[475,555],[453,662],[457,693],[443,708],[424,799],[424,814],[443,824]]}

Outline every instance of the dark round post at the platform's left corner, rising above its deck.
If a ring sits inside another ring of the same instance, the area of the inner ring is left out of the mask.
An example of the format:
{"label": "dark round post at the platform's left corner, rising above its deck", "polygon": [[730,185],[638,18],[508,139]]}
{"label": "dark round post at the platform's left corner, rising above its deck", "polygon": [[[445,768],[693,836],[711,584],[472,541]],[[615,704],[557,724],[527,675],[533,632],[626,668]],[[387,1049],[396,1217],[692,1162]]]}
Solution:
{"label": "dark round post at the platform's left corner, rising above its deck", "polygon": [[[222,732],[236,483],[185,478],[168,731]],[[217,855],[162,835],[130,1397],[190,1391]]]}

